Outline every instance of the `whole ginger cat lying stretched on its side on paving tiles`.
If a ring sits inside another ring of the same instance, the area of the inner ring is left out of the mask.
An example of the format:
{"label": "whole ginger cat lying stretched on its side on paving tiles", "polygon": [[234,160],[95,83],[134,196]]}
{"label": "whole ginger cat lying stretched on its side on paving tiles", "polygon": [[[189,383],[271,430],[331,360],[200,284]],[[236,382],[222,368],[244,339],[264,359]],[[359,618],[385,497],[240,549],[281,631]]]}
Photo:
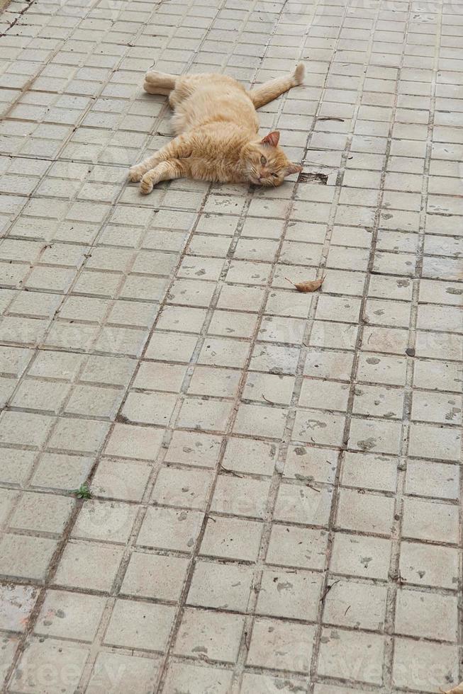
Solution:
{"label": "whole ginger cat lying stretched on its side on paving tiles", "polygon": [[177,77],[147,72],[143,87],[169,96],[177,137],[152,157],[133,166],[131,181],[147,195],[160,181],[190,176],[200,181],[281,186],[285,176],[302,171],[278,146],[279,132],[257,135],[256,108],[301,84],[302,63],[293,74],[246,91],[233,77],[193,74]]}

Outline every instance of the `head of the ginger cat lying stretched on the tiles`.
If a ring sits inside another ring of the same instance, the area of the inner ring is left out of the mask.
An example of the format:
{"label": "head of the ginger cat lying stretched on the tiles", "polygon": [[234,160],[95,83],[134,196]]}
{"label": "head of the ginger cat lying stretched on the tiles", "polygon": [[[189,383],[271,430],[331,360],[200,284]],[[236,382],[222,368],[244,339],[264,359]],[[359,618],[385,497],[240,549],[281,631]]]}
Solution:
{"label": "head of the ginger cat lying stretched on the tiles", "polygon": [[302,171],[302,166],[289,161],[278,146],[279,139],[278,130],[274,130],[245,148],[246,176],[255,186],[281,186],[286,176]]}

